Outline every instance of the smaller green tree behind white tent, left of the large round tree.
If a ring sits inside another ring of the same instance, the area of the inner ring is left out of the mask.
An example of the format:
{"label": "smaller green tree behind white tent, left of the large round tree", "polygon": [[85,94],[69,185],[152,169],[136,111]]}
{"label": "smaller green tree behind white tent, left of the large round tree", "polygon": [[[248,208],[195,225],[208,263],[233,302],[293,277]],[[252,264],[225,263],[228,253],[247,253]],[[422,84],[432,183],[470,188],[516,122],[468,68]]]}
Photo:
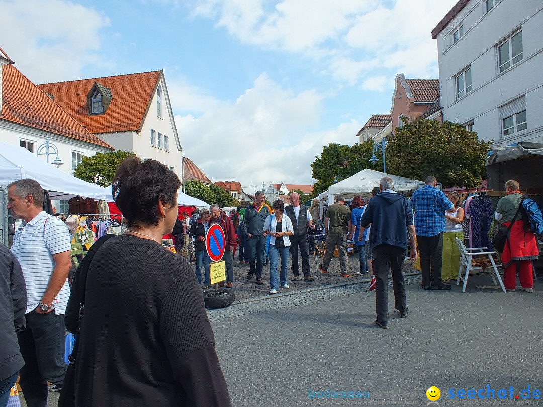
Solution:
{"label": "smaller green tree behind white tent, left of the large round tree", "polygon": [[370,163],[368,161],[371,158],[372,149],[373,141],[371,140],[353,146],[338,143],[330,143],[325,146],[320,157],[315,157],[315,161],[311,164],[313,178],[317,182],[315,182],[313,193],[308,199],[313,199],[327,190],[336,177],[344,180],[364,168],[382,170],[382,162]]}

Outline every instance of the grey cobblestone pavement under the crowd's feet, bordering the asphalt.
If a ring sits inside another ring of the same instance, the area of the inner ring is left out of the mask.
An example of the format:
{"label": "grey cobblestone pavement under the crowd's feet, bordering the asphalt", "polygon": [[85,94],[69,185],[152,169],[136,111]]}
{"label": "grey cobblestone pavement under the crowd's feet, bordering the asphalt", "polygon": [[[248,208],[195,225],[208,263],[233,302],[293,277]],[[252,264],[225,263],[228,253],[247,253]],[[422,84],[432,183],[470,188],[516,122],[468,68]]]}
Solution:
{"label": "grey cobblestone pavement under the crowd's feet, bordering the asphalt", "polygon": [[[352,258],[353,257],[350,256],[350,260]],[[356,266],[358,266],[358,257],[354,260],[356,261]],[[232,318],[269,309],[295,307],[302,304],[323,301],[331,297],[341,297],[367,292],[370,283],[369,275],[368,277],[356,275],[358,268],[355,269],[352,260],[350,277],[340,277],[339,259],[337,258],[332,259],[326,275],[319,273],[319,279],[317,279],[317,273],[314,271],[317,267],[315,267],[314,263],[312,264],[311,274],[315,279],[314,282],[304,282],[303,277],[300,281],[293,282],[289,260],[287,283],[291,288],[280,288],[279,294],[269,295],[269,266],[264,266],[264,284],[257,285],[254,277],[251,280],[246,279],[249,265],[241,265],[238,261],[235,263],[233,288],[236,292],[236,301],[225,308],[208,309],[207,315],[209,316],[210,321]],[[421,282],[420,272],[413,270],[411,262],[409,261],[407,261],[403,267],[403,274],[405,276],[406,284]],[[300,275],[303,276],[302,274]],[[392,279],[389,279],[388,285],[392,288]]]}

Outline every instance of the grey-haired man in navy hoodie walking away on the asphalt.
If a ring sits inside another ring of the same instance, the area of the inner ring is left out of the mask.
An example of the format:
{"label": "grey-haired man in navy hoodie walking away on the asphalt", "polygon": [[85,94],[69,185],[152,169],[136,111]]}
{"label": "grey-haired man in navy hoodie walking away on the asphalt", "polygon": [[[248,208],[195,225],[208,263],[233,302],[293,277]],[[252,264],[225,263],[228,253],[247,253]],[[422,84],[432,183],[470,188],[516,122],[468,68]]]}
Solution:
{"label": "grey-haired man in navy hoodie walking away on the asphalt", "polygon": [[[394,289],[394,308],[400,316],[406,318],[409,312],[405,281],[402,275],[404,252],[407,247],[407,233],[415,241],[413,210],[407,199],[394,192],[394,181],[383,177],[379,182],[380,193],[366,204],[360,222],[358,240],[363,239],[364,230],[371,224],[370,244],[373,272],[376,279],[375,323],[381,328],[388,328],[388,274],[392,270],[392,288]],[[416,258],[415,245],[411,247],[411,260]]]}

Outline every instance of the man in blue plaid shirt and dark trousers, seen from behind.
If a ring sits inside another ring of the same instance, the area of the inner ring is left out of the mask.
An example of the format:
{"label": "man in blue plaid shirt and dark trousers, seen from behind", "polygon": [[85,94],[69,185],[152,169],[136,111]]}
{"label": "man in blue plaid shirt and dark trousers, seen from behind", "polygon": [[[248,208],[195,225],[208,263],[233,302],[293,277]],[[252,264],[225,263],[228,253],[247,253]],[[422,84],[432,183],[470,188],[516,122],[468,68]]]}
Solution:
{"label": "man in blue plaid shirt and dark trousers, seen from behind", "polygon": [[421,287],[425,290],[450,290],[451,286],[441,280],[441,265],[445,211],[452,212],[454,205],[436,188],[437,185],[434,176],[427,177],[425,186],[413,193],[411,207],[415,211],[415,231],[420,250]]}

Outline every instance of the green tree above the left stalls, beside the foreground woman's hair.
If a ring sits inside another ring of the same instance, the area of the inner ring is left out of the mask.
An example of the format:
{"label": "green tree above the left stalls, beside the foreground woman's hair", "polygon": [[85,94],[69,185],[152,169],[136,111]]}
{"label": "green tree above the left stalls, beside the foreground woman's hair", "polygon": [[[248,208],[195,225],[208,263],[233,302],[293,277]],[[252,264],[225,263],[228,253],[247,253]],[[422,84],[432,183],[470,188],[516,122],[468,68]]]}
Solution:
{"label": "green tree above the left stalls, beside the foreground woman's hair", "polygon": [[80,180],[92,182],[100,187],[111,185],[117,166],[124,158],[135,155],[128,151],[97,152],[92,157],[83,156],[74,175]]}

